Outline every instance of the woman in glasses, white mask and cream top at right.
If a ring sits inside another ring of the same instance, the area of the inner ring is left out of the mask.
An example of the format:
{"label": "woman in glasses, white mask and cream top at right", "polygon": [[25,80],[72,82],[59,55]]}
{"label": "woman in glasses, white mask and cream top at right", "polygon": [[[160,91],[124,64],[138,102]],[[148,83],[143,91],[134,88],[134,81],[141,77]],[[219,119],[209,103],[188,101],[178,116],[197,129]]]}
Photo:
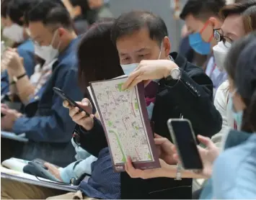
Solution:
{"label": "woman in glasses, white mask and cream top at right", "polygon": [[[227,5],[221,9],[220,14],[224,18],[224,23],[221,29],[214,30],[214,37],[218,41],[218,45],[213,47],[213,53],[216,63],[219,63],[219,66],[224,68],[224,60],[232,42],[256,30],[256,1],[250,0]],[[222,116],[221,132],[212,137],[213,142],[219,145],[221,137],[227,129],[241,129],[241,122],[233,119],[231,111],[228,109],[230,104],[229,81],[225,81],[219,86],[214,104]]]}

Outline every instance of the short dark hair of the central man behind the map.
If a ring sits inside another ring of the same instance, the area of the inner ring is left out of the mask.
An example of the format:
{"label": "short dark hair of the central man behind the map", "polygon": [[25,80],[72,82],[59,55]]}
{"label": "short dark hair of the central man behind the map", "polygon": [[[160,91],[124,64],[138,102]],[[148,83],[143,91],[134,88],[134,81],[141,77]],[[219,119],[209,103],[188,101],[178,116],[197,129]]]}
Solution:
{"label": "short dark hair of the central man behind the map", "polygon": [[146,27],[149,29],[149,36],[152,40],[156,40],[161,45],[165,36],[168,36],[167,26],[164,20],[146,11],[132,11],[121,14],[111,31],[111,40],[116,44],[116,41],[125,35],[131,35],[140,29]]}

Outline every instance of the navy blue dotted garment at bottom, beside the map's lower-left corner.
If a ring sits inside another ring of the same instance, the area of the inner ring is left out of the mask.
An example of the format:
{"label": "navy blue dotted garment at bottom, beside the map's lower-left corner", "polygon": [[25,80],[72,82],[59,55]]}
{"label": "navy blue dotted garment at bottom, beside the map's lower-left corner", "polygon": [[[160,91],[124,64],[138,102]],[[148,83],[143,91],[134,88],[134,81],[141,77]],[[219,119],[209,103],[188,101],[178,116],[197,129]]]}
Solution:
{"label": "navy blue dotted garment at bottom, beside the map's lower-left corner", "polygon": [[92,163],[92,176],[81,181],[79,189],[96,199],[120,199],[120,173],[113,170],[108,147],[100,151],[98,160]]}

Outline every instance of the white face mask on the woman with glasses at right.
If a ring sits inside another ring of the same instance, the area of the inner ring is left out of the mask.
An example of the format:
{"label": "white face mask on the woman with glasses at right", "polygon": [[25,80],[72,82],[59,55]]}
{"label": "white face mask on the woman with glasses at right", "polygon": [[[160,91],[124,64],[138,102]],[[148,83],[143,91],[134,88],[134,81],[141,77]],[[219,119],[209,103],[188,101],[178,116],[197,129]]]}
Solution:
{"label": "white face mask on the woman with glasses at right", "polygon": [[213,47],[214,59],[219,71],[224,71],[224,62],[226,54],[229,52],[231,44],[229,42],[218,42],[218,45]]}

